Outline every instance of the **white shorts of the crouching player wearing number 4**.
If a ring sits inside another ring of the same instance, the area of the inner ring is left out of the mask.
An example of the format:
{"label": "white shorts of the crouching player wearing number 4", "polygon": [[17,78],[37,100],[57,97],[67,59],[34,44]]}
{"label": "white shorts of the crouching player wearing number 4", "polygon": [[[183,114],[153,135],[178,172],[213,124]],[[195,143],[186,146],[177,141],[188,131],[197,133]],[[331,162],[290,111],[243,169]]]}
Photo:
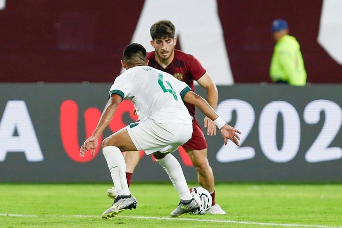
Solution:
{"label": "white shorts of the crouching player wearing number 4", "polygon": [[144,150],[146,155],[156,151],[173,152],[186,143],[192,135],[192,124],[156,123],[147,119],[126,126],[137,150]]}

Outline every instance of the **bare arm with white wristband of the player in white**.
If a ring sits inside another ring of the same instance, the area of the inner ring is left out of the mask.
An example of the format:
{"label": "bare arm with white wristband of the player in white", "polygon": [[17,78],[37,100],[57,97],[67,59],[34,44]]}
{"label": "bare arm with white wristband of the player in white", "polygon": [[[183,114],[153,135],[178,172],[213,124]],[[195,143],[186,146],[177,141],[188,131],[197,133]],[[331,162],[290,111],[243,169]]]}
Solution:
{"label": "bare arm with white wristband of the player in white", "polygon": [[238,141],[240,140],[240,137],[238,134],[241,134],[241,132],[225,123],[206,100],[204,100],[201,96],[197,95],[193,91],[189,91],[188,93],[186,93],[183,100],[187,103],[196,105],[208,118],[210,118],[215,123],[215,125],[217,125],[224,139],[224,144],[227,144],[229,139],[233,141],[237,146],[240,146]]}

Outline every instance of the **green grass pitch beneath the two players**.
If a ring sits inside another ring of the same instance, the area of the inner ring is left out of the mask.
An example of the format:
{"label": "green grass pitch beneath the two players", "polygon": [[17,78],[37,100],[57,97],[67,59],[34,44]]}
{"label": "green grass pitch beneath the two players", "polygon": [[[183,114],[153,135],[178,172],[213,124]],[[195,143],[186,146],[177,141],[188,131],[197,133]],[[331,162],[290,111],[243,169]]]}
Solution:
{"label": "green grass pitch beneath the two players", "polygon": [[216,201],[227,214],[171,218],[179,202],[171,183],[133,183],[137,209],[102,219],[112,204],[109,187],[0,184],[0,227],[342,227],[342,184],[222,183]]}

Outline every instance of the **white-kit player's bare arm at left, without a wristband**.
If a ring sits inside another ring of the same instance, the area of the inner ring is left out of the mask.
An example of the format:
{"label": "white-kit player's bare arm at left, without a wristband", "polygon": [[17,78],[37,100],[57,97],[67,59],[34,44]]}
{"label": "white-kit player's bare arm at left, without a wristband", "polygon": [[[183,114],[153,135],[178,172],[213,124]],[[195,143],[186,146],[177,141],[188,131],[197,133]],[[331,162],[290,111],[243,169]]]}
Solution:
{"label": "white-kit player's bare arm at left, without a wristband", "polygon": [[102,134],[102,132],[113,119],[114,113],[117,110],[121,101],[122,97],[118,94],[112,94],[112,96],[109,98],[106,107],[102,112],[98,126],[94,130],[92,136],[90,136],[87,140],[84,141],[83,145],[79,150],[81,157],[84,157],[84,154],[90,149],[92,149],[92,156],[94,156],[95,149],[98,146],[99,136]]}

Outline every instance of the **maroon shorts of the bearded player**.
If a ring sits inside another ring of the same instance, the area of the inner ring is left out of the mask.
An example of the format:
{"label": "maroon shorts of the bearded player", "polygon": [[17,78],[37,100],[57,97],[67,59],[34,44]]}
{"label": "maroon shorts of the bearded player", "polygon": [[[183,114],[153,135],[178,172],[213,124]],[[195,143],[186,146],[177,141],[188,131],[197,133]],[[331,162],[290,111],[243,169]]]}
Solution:
{"label": "maroon shorts of the bearded player", "polygon": [[193,134],[189,141],[183,144],[183,147],[187,149],[205,149],[208,147],[207,142],[205,140],[202,128],[198,124],[196,118],[193,119]]}

